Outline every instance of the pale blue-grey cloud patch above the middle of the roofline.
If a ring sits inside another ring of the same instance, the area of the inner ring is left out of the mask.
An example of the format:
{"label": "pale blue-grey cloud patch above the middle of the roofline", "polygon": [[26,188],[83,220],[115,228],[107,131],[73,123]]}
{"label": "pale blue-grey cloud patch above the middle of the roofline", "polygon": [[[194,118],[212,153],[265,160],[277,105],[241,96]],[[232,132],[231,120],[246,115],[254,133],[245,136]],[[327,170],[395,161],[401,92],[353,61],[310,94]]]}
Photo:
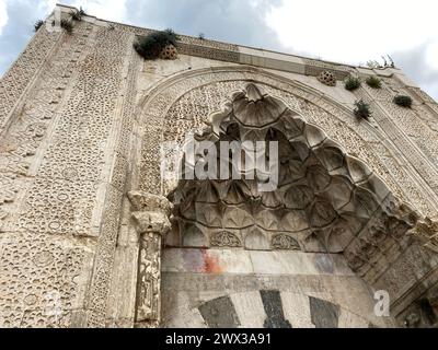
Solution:
{"label": "pale blue-grey cloud patch above the middle of the roofline", "polygon": [[204,33],[211,39],[281,49],[276,33],[264,21],[264,14],[280,3],[280,0],[128,0],[127,10],[136,25],[171,27],[187,35]]}

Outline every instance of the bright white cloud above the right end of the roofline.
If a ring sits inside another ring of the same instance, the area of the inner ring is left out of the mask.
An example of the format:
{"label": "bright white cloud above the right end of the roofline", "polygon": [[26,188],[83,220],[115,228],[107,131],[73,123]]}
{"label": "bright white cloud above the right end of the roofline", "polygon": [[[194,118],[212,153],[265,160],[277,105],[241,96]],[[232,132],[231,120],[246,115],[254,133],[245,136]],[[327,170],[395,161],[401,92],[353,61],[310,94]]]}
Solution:
{"label": "bright white cloud above the right end of the roofline", "polygon": [[423,42],[438,45],[437,12],[430,0],[284,0],[266,21],[286,47],[359,63]]}

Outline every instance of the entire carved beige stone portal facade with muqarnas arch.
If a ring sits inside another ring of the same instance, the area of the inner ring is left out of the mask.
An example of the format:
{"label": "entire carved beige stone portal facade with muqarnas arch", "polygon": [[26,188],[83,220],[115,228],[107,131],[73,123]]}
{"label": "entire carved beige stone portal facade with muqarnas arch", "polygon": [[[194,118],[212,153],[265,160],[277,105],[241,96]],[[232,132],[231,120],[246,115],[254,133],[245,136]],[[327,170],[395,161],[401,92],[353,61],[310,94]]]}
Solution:
{"label": "entire carved beige stone portal facade with muqarnas arch", "polygon": [[[395,68],[188,36],[143,60],[151,32],[43,25],[1,79],[0,326],[435,326],[438,104]],[[163,179],[191,132],[278,141],[278,188]]]}

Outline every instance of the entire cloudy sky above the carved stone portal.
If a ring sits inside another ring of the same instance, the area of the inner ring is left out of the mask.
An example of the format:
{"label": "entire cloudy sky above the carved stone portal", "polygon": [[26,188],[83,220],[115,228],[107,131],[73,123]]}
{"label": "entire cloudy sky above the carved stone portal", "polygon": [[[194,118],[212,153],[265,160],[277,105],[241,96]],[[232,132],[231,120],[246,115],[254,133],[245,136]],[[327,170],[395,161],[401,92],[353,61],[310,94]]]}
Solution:
{"label": "entire cloudy sky above the carved stone portal", "polygon": [[[0,0],[0,75],[56,0]],[[391,55],[438,100],[436,0],[59,0],[105,20],[365,65]]]}

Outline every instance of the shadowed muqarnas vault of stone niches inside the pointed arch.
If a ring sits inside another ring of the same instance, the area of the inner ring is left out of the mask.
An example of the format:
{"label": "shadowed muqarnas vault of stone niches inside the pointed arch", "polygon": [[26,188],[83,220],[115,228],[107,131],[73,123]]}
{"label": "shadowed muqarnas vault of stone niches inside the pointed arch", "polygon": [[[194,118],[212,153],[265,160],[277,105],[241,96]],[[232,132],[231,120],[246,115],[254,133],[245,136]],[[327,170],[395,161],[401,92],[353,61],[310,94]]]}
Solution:
{"label": "shadowed muqarnas vault of stone niches inside the pointed arch", "polygon": [[[263,179],[246,179],[243,173],[241,180],[180,180],[171,196],[174,217],[196,221],[201,235],[237,230],[250,249],[344,252],[354,271],[374,281],[385,268],[379,261],[396,259],[406,233],[422,218],[365,163],[254,84],[232,94],[209,125],[195,142],[275,140],[280,167],[272,192],[260,192]],[[217,153],[219,162],[219,147]],[[195,154],[200,154],[196,145]],[[180,228],[184,245],[186,231]]]}

